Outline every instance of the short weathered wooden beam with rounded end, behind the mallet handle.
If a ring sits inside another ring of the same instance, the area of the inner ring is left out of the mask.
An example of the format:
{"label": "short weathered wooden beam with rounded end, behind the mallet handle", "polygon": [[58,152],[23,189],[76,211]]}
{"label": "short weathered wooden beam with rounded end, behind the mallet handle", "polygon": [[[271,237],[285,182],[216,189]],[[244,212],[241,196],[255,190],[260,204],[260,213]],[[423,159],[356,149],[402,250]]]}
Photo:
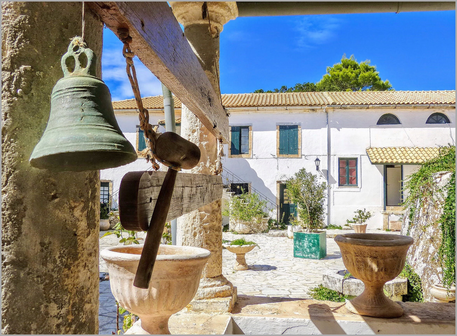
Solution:
{"label": "short weathered wooden beam with rounded end, behind the mallet handle", "polygon": [[[128,172],[119,189],[119,218],[127,230],[146,231],[165,172]],[[178,173],[167,221],[178,218],[222,197],[222,178],[218,175]]]}

